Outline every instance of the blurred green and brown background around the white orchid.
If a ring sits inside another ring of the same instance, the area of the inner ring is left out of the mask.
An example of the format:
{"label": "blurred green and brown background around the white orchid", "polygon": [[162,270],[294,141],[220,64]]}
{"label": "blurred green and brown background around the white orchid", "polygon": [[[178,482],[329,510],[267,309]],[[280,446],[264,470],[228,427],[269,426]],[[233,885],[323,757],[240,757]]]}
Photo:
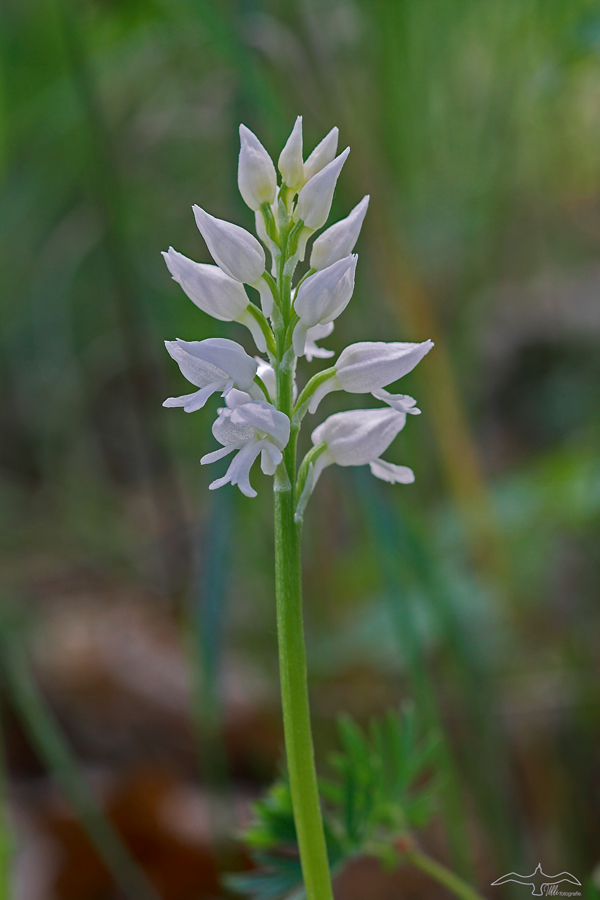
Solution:
{"label": "blurred green and brown background around the white orchid", "polygon": [[[340,711],[412,700],[432,855],[486,897],[538,862],[597,897],[600,4],[4,0],[0,44],[0,895],[125,896],[75,771],[162,900],[246,864],[226,835],[282,758],[271,486],[209,494],[216,401],[161,408],[164,339],[251,347],[160,251],[208,261],[192,203],[251,228],[238,124],[276,157],[302,114],[307,151],[352,147],[330,221],[371,195],[324,343],[436,342],[390,454],[416,483],[332,468],[307,515],[319,768]],[[373,860],[336,893],[445,896]]]}

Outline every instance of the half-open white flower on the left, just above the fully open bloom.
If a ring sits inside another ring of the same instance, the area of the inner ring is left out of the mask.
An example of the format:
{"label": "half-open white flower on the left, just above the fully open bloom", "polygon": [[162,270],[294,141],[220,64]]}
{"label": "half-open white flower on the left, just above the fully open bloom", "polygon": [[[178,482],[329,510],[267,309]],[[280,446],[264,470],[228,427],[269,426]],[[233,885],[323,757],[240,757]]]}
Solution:
{"label": "half-open white flower on the left, just above the fully open bloom", "polygon": [[258,365],[243,347],[226,338],[205,341],[165,341],[169,355],[181,369],[181,374],[200,388],[182,397],[169,397],[163,406],[183,406],[186,412],[202,409],[208,398],[222,391],[227,395],[233,388],[261,396],[254,383]]}

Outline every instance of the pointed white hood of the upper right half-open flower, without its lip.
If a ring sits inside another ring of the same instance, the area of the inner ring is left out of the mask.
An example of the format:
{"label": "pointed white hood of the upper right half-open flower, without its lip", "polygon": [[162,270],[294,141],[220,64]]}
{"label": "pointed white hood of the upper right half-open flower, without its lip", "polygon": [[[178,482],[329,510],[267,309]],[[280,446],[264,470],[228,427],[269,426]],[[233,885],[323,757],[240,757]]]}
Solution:
{"label": "pointed white hood of the upper right half-open flower, without its lip", "polygon": [[414,369],[432,347],[432,341],[421,344],[384,341],[350,344],[340,353],[336,363],[337,376],[345,391],[352,394],[371,393]]}

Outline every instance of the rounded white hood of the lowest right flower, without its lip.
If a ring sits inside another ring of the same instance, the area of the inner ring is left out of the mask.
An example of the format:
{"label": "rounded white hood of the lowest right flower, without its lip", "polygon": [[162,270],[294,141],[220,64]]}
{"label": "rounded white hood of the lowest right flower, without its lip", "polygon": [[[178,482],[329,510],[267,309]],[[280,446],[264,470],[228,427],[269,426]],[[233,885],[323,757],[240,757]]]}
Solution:
{"label": "rounded white hood of the lowest right flower, without its lip", "polygon": [[311,440],[324,441],[338,466],[363,466],[387,450],[405,423],[406,414],[394,409],[353,409],[329,416]]}

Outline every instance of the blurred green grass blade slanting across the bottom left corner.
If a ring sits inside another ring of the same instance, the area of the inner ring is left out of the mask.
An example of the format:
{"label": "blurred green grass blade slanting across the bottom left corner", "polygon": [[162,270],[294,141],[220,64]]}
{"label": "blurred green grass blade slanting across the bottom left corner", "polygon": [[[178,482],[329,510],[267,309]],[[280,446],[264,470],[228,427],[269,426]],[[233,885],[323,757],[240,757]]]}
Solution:
{"label": "blurred green grass blade slanting across the bottom left corner", "polygon": [[78,763],[40,695],[24,654],[14,643],[13,636],[2,638],[2,662],[9,697],[23,720],[33,746],[56,777],[124,896],[129,900],[160,900],[82,778]]}

